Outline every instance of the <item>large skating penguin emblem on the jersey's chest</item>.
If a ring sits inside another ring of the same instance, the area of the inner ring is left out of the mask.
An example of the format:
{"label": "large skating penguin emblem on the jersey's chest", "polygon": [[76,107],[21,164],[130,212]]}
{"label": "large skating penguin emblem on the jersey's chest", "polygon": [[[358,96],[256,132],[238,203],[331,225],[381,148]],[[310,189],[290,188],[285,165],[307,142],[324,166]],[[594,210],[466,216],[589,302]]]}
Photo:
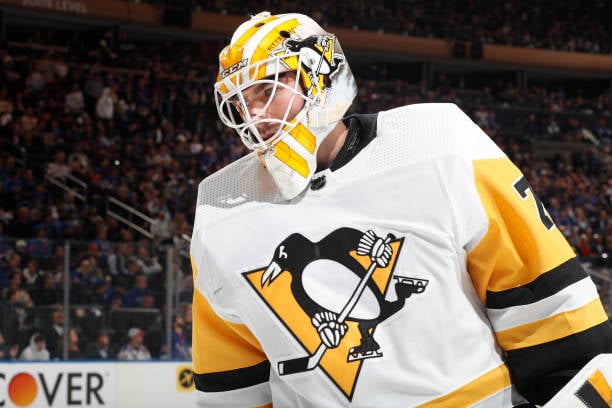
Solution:
{"label": "large skating penguin emblem on the jersey's chest", "polygon": [[318,367],[352,399],[363,362],[383,356],[376,327],[428,284],[394,274],[403,241],[353,228],[318,242],[294,233],[267,266],[243,274],[304,349],[278,362],[279,375]]}

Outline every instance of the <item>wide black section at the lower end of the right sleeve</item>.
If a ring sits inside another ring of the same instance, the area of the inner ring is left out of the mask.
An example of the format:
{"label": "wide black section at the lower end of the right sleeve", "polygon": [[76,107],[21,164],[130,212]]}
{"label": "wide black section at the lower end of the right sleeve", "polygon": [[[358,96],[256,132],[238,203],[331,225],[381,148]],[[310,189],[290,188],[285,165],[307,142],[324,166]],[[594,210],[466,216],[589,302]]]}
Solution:
{"label": "wide black section at the lower end of the right sleeve", "polygon": [[612,326],[606,321],[559,340],[510,350],[506,364],[519,392],[544,405],[593,357],[610,352]]}

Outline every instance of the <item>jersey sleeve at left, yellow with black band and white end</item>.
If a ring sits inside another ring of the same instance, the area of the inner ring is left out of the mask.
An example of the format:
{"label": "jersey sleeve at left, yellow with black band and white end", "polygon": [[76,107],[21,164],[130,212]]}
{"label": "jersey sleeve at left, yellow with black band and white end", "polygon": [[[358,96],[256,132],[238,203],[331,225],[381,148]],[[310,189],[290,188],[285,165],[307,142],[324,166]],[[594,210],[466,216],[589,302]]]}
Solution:
{"label": "jersey sleeve at left, yellow with black band and white end", "polygon": [[[192,261],[194,280],[197,266]],[[271,407],[270,363],[241,323],[219,316],[197,287],[193,296],[193,371],[198,407]]]}

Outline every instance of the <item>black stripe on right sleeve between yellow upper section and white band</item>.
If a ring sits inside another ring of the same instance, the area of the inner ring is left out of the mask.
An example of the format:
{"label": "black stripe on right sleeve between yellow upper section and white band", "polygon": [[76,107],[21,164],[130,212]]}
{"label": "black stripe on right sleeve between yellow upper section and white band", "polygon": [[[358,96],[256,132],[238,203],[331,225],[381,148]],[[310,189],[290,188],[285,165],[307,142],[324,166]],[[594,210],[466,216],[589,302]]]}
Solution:
{"label": "black stripe on right sleeve between yellow upper section and white band", "polygon": [[569,259],[526,285],[500,292],[487,291],[487,308],[528,305],[554,295],[588,275],[576,258]]}

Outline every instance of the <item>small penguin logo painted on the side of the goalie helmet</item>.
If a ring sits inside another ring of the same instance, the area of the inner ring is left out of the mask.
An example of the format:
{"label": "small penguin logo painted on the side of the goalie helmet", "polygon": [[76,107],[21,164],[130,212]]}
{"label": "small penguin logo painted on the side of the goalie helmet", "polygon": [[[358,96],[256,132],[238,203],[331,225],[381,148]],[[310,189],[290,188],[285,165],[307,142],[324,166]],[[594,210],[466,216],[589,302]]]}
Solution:
{"label": "small penguin logo painted on the side of the goalie helmet", "polygon": [[[289,35],[287,32],[282,34]],[[302,55],[302,68],[306,75],[303,85],[309,97],[315,96],[319,89],[325,89],[331,81],[329,77],[344,62],[344,56],[334,53],[332,35],[313,35],[303,40],[288,38],[283,43],[285,51],[299,52]]]}

